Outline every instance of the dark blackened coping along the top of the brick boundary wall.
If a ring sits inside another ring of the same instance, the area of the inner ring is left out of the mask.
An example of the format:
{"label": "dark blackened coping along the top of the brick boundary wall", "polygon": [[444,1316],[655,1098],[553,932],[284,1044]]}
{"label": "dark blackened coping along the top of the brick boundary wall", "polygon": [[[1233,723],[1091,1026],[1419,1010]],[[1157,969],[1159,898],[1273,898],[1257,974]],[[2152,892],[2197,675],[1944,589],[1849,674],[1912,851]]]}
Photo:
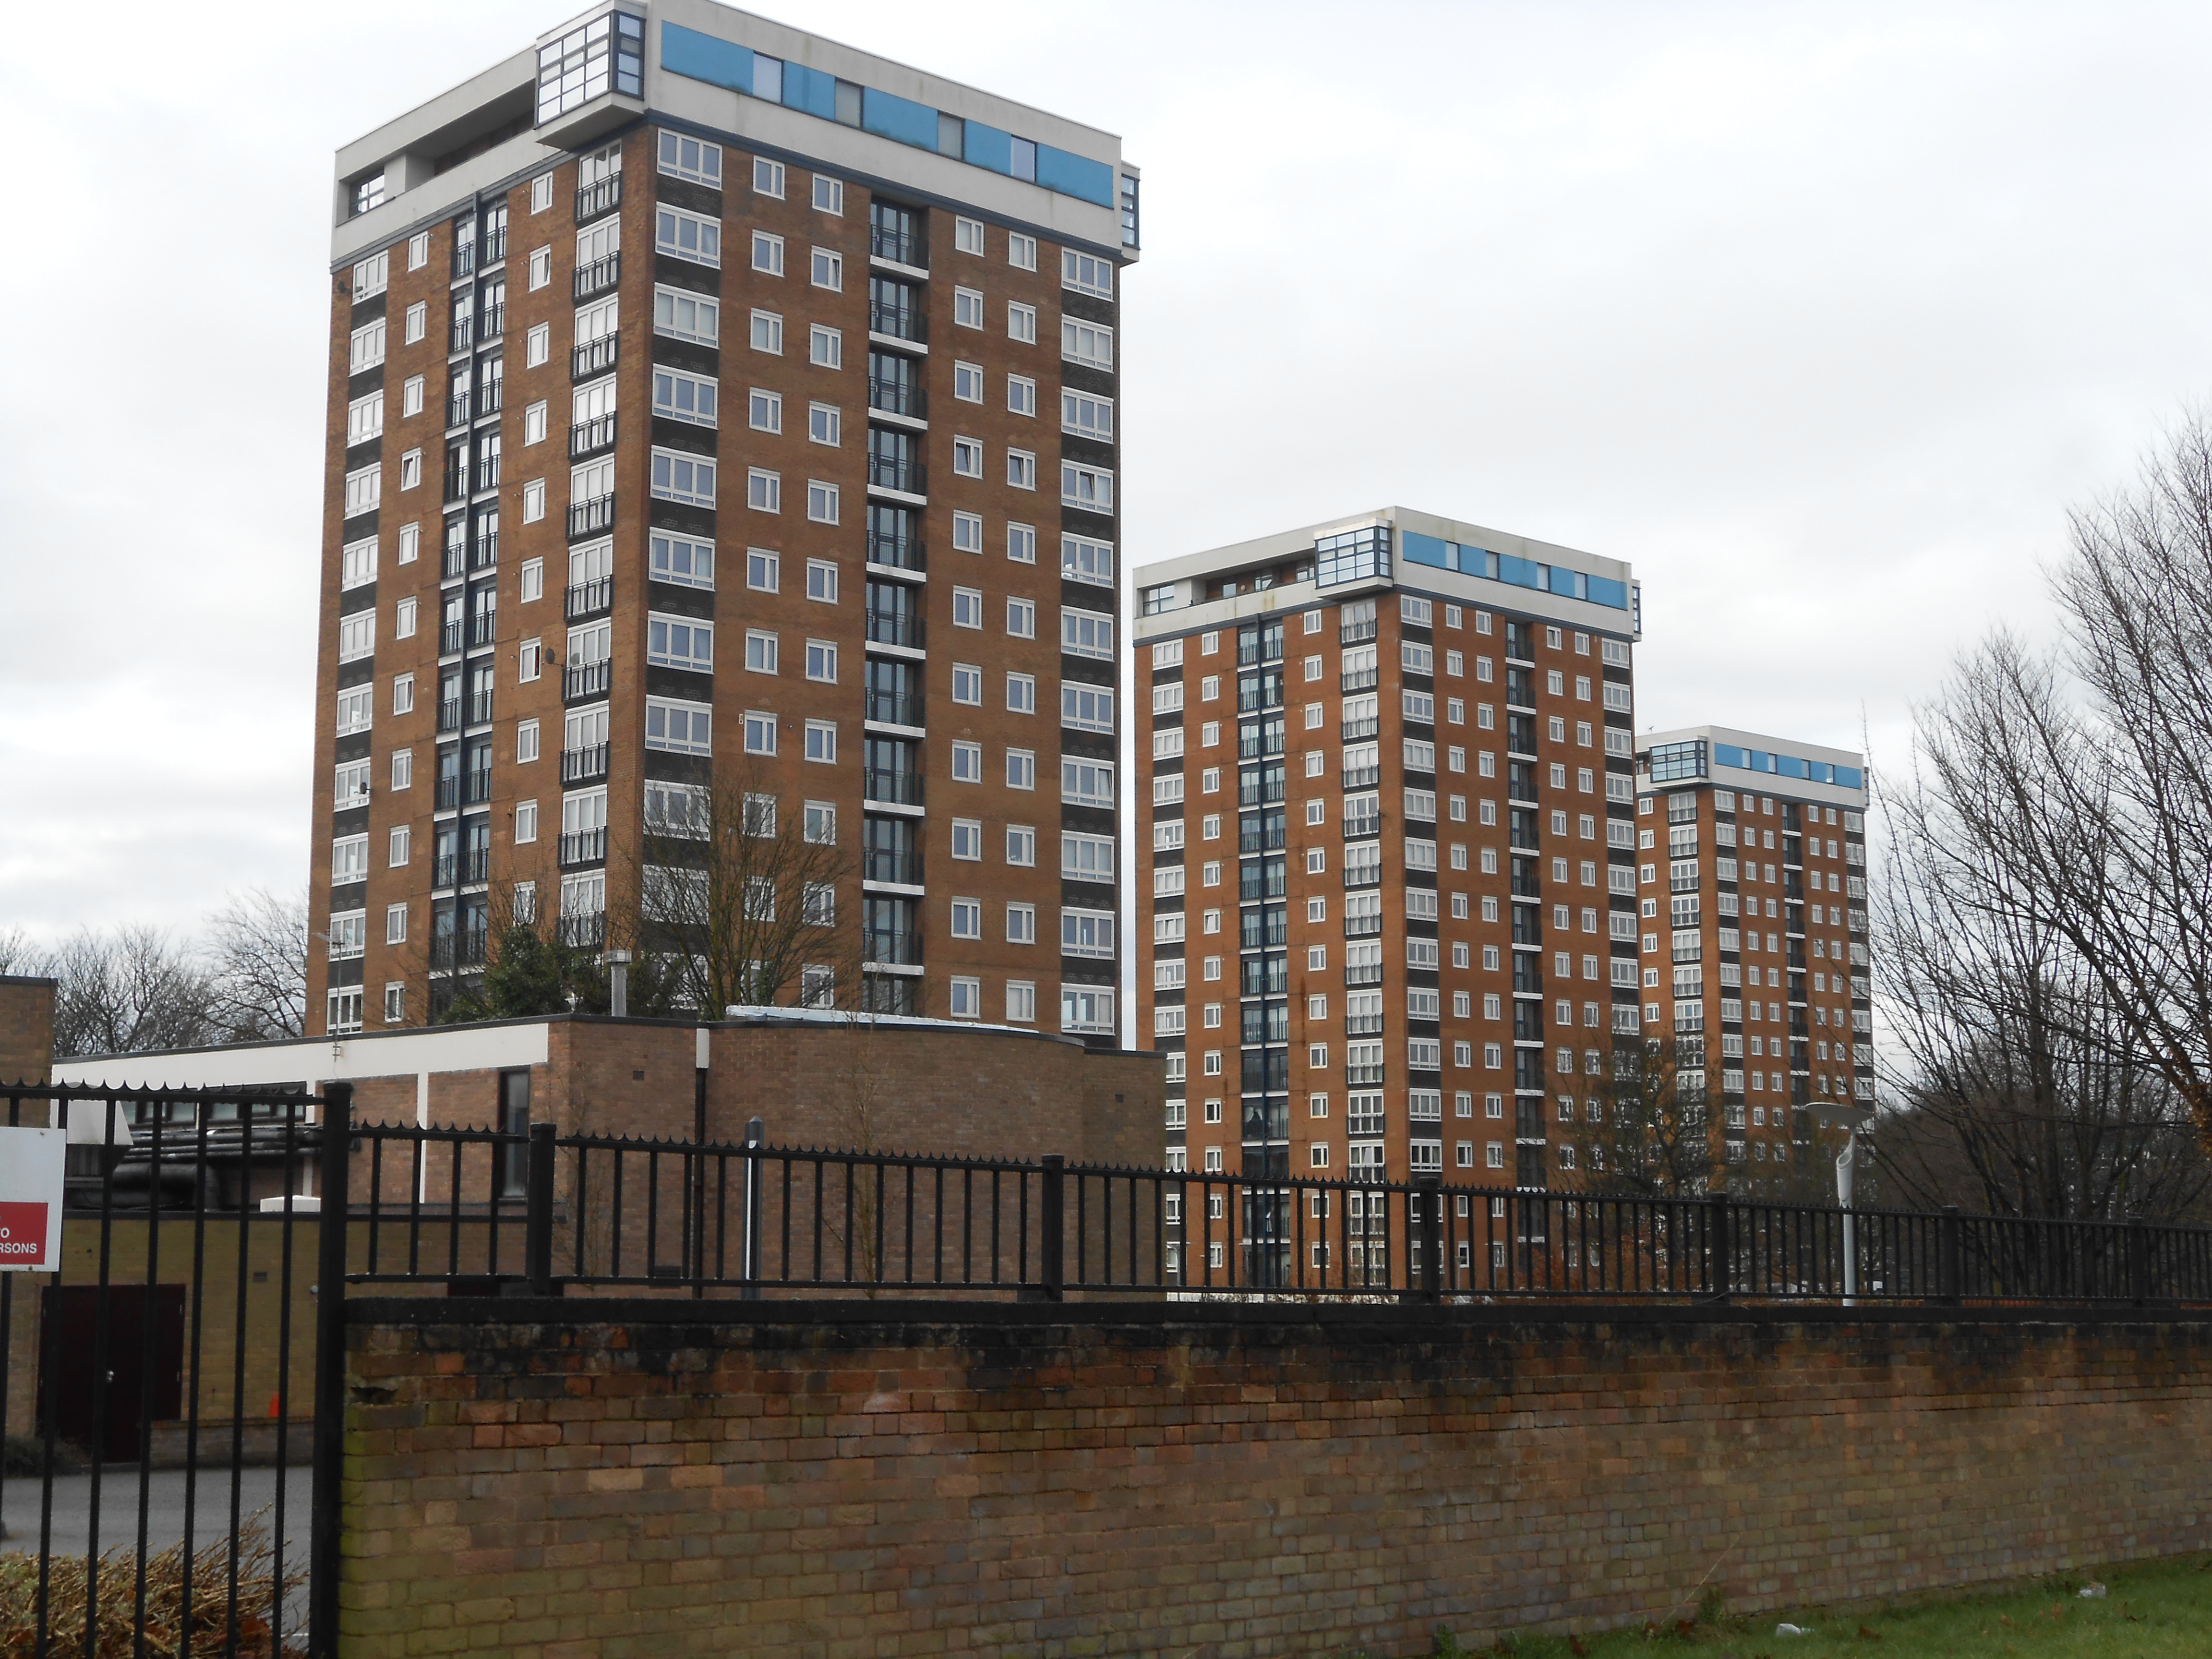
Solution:
{"label": "dark blackened coping along the top of the brick boundary wall", "polygon": [[[984,1303],[984,1301],[900,1301],[894,1305],[847,1298],[821,1301],[664,1301],[630,1296],[347,1296],[347,1325],[792,1325],[856,1327],[876,1332],[911,1332],[916,1327],[1128,1327],[1133,1332],[1168,1332],[1177,1327],[1272,1329],[1327,1327],[1334,1332],[1367,1332],[1385,1340],[1422,1340],[1438,1334],[1473,1334],[1500,1329],[1568,1332],[1606,1327],[1699,1327],[1699,1325],[2051,1325],[2062,1329],[2121,1329],[2152,1325],[2190,1329],[2212,1338],[2212,1310],[2205,1307],[1741,1307],[1717,1303],[1632,1305],[1588,1303],[1557,1305],[1486,1305],[1486,1307],[1371,1307],[1371,1305],[1267,1305],[1267,1303]],[[891,1336],[887,1340],[907,1340]]]}

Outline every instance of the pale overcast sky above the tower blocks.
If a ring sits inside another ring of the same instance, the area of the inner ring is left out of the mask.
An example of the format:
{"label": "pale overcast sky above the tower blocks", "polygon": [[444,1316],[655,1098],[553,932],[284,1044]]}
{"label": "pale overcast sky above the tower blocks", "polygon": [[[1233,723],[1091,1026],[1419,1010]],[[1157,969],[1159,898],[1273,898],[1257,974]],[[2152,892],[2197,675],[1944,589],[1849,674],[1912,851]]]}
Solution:
{"label": "pale overcast sky above the tower blocks", "polygon": [[[1641,726],[1902,757],[2212,387],[2201,7],[770,11],[1126,137],[1133,564],[1385,502],[1630,560]],[[564,15],[11,20],[0,931],[305,883],[330,155]]]}

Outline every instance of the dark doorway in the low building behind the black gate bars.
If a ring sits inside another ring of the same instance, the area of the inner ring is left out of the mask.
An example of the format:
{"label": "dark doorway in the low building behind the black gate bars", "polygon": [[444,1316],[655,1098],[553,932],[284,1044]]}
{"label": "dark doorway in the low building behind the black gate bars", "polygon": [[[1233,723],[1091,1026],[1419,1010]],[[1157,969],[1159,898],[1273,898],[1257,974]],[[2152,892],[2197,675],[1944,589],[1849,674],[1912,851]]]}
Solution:
{"label": "dark doorway in the low building behind the black gate bars", "polygon": [[[102,1303],[104,1389],[97,1387]],[[40,1378],[40,1420],[51,1411],[62,1440],[104,1460],[137,1462],[142,1425],[184,1416],[184,1285],[49,1285],[44,1312],[53,1365]]]}

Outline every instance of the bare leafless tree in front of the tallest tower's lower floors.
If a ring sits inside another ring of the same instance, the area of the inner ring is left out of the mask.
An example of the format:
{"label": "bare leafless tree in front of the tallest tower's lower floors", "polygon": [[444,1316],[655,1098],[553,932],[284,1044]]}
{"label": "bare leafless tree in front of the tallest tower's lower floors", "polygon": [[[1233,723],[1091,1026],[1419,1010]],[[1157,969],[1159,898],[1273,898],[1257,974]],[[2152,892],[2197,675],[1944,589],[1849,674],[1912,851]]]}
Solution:
{"label": "bare leafless tree in front of the tallest tower's lower floors", "polygon": [[611,927],[670,958],[690,1006],[854,1009],[865,953],[854,872],[834,818],[726,765],[650,796],[635,911],[611,911]]}

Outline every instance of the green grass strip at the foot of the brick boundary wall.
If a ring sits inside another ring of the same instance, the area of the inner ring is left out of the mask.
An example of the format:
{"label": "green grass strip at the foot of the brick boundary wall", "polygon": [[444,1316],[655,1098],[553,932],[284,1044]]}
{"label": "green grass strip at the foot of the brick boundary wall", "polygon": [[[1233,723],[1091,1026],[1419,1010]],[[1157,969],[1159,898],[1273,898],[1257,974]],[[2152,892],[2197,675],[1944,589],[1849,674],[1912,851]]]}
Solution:
{"label": "green grass strip at the foot of the brick boundary wall", "polygon": [[[2106,1595],[2079,1590],[2101,1582]],[[1809,1635],[1778,1637],[1776,1624]],[[1699,1615],[1586,1637],[1451,1637],[1438,1655],[1515,1659],[2203,1659],[2212,1655],[2212,1557],[2183,1555],[2066,1573],[1989,1595],[1854,1601],[1736,1617],[1708,1595]]]}

